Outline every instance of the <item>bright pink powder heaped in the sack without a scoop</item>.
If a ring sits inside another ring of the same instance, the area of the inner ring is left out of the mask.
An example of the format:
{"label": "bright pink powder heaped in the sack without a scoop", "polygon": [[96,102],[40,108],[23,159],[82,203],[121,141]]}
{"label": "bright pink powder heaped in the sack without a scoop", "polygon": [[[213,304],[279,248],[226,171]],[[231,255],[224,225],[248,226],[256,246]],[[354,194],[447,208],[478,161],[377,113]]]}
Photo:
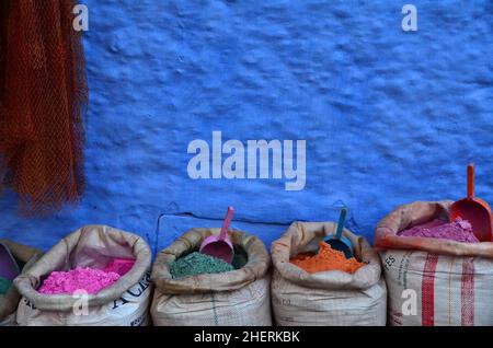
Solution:
{"label": "bright pink powder heaped in the sack without a scoop", "polygon": [[77,267],[69,271],[53,271],[39,288],[45,294],[73,294],[77,290],[98,293],[119,279],[114,271]]}

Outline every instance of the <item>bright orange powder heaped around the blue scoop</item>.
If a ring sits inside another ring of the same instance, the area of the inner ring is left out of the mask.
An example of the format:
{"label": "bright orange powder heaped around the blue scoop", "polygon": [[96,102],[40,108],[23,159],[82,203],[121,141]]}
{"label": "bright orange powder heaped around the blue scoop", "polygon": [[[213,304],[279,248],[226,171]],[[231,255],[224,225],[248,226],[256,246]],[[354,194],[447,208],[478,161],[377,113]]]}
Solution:
{"label": "bright orange powder heaped around the blue scoop", "polygon": [[299,254],[290,259],[291,264],[305,269],[309,274],[324,270],[342,270],[354,274],[365,264],[356,258],[347,259],[343,252],[334,251],[329,244],[320,242],[318,254]]}

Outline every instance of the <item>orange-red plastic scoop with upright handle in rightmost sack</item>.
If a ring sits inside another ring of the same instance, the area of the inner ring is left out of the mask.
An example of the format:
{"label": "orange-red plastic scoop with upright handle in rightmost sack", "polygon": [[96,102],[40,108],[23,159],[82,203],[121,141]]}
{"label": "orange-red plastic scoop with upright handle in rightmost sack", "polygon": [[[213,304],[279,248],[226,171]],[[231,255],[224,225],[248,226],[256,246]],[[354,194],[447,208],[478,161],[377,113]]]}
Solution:
{"label": "orange-red plastic scoop with upright handle in rightmost sack", "polygon": [[480,242],[493,241],[493,222],[490,206],[474,197],[474,164],[468,165],[468,196],[450,206],[450,219],[468,220]]}

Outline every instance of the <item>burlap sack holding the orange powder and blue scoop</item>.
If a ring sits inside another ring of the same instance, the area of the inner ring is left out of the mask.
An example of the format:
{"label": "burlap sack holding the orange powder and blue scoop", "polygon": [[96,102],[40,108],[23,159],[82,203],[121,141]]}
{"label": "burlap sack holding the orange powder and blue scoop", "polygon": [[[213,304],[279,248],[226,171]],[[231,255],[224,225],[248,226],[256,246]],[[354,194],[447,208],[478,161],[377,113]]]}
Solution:
{"label": "burlap sack holding the orange powder and blue scoop", "polygon": [[355,257],[367,264],[353,275],[339,270],[309,274],[289,262],[299,253],[316,252],[320,241],[335,230],[333,222],[294,222],[272,244],[271,294],[277,325],[386,324],[387,291],[380,260],[363,236],[343,231],[355,247]]}

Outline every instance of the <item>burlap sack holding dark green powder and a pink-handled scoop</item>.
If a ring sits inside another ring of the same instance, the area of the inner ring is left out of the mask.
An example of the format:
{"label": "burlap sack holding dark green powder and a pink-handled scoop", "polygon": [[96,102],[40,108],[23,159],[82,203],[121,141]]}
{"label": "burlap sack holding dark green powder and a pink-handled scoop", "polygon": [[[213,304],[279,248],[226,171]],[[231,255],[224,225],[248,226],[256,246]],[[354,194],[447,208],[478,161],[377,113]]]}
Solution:
{"label": "burlap sack holding dark green powder and a pink-handled scoop", "polygon": [[229,231],[246,264],[236,270],[173,279],[176,259],[198,251],[202,241],[219,229],[192,229],[159,253],[152,267],[156,285],[151,304],[159,326],[270,326],[268,268],[271,258],[261,240],[241,231]]}

